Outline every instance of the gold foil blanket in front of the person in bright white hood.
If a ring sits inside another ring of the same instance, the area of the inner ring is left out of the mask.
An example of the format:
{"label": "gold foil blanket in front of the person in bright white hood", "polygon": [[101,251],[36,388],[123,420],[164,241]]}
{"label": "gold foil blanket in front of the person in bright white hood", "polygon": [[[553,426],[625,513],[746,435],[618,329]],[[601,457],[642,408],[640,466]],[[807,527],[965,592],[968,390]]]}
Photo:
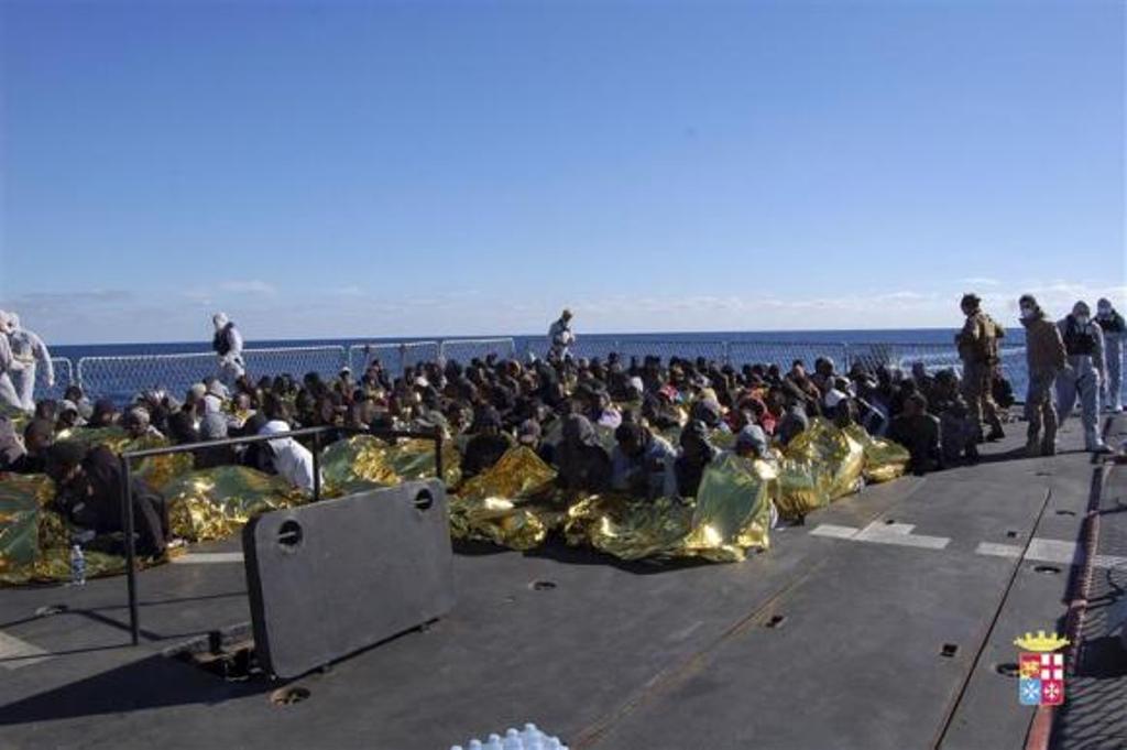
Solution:
{"label": "gold foil blanket in front of the person in bright white hood", "polygon": [[177,477],[161,489],[174,536],[223,539],[255,515],[309,501],[285,479],[246,466],[220,466]]}

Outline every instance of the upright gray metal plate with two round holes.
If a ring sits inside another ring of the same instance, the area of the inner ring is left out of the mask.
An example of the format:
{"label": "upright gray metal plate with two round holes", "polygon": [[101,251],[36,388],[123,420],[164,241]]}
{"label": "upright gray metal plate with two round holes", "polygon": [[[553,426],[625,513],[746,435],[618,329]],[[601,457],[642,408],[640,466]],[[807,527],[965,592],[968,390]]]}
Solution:
{"label": "upright gray metal plate with two round holes", "polygon": [[278,677],[454,605],[446,494],[436,480],[265,513],[243,528],[242,541],[255,650]]}

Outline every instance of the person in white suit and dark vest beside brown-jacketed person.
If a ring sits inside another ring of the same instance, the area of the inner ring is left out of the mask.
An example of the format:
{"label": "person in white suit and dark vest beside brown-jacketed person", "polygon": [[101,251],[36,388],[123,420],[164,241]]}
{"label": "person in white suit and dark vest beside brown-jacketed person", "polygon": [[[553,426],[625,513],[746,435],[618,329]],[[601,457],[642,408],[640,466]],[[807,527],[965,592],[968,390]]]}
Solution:
{"label": "person in white suit and dark vest beside brown-jacketed person", "polygon": [[1057,323],[1064,339],[1067,364],[1056,379],[1057,422],[1064,427],[1080,397],[1084,423],[1084,450],[1107,453],[1109,448],[1100,436],[1100,381],[1107,368],[1103,360],[1103,330],[1091,318],[1086,302],[1076,302],[1072,315]]}

